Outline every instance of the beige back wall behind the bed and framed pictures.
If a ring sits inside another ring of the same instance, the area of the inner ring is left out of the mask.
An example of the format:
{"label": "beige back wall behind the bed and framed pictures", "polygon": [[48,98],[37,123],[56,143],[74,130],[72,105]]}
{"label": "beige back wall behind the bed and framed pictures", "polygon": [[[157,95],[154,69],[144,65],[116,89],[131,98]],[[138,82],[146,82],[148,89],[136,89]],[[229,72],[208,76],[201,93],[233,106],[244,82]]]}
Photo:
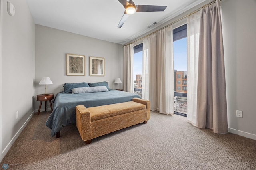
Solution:
{"label": "beige back wall behind the bed and framed pictures", "polygon": [[[66,53],[86,56],[86,75],[66,75]],[[44,85],[38,85],[42,77],[50,77],[52,85],[47,85],[47,92],[64,90],[64,83],[108,81],[110,89],[117,89],[114,83],[117,77],[122,80],[122,63],[124,47],[120,44],[106,42],[95,38],[36,25],[36,74],[35,74],[35,109],[39,101],[36,95],[44,93]],[[89,75],[89,57],[105,58],[105,76]],[[122,87],[122,84],[119,84]],[[48,103],[48,102],[47,102]],[[49,104],[48,104],[49,105]],[[49,107],[49,106],[48,106]],[[41,107],[41,111],[44,110]]]}

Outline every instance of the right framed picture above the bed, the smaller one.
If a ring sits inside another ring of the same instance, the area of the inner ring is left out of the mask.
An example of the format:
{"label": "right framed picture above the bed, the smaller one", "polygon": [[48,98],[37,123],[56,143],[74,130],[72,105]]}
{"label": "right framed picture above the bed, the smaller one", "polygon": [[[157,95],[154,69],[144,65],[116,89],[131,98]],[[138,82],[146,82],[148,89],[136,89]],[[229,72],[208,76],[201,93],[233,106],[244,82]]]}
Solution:
{"label": "right framed picture above the bed, the smaller one", "polygon": [[100,57],[90,57],[90,76],[105,75],[105,59]]}

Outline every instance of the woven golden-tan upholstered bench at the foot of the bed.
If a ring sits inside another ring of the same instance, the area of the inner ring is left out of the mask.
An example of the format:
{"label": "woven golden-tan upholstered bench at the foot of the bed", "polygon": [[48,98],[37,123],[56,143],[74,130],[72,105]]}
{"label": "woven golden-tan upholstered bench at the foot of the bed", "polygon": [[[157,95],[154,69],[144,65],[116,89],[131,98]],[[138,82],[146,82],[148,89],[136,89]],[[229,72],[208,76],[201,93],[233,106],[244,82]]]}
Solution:
{"label": "woven golden-tan upholstered bench at the foot of the bed", "polygon": [[89,144],[93,138],[120,130],[150,119],[150,101],[132,101],[96,107],[76,106],[76,127],[82,140]]}

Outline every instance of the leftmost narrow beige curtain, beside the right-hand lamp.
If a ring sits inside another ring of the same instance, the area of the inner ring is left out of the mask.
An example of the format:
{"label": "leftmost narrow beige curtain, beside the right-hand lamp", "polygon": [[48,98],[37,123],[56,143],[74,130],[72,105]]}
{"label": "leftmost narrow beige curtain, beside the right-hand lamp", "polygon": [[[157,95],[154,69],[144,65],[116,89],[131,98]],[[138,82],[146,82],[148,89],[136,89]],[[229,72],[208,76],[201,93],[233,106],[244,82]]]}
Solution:
{"label": "leftmost narrow beige curtain, beside the right-hand lamp", "polygon": [[134,93],[133,55],[133,44],[124,46],[124,91],[130,93]]}

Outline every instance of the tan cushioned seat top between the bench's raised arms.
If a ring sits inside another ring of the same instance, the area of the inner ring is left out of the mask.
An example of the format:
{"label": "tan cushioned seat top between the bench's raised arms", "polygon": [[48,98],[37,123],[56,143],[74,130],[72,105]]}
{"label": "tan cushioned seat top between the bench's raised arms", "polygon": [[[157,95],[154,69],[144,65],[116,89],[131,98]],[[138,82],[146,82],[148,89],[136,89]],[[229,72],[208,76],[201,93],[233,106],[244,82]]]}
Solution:
{"label": "tan cushioned seat top between the bench's raised arms", "polygon": [[88,107],[87,109],[91,113],[91,121],[93,122],[100,119],[113,117],[116,115],[121,115],[125,113],[146,109],[146,105],[143,105],[141,103],[137,103],[134,101],[128,101],[124,103],[116,103],[111,105]]}

